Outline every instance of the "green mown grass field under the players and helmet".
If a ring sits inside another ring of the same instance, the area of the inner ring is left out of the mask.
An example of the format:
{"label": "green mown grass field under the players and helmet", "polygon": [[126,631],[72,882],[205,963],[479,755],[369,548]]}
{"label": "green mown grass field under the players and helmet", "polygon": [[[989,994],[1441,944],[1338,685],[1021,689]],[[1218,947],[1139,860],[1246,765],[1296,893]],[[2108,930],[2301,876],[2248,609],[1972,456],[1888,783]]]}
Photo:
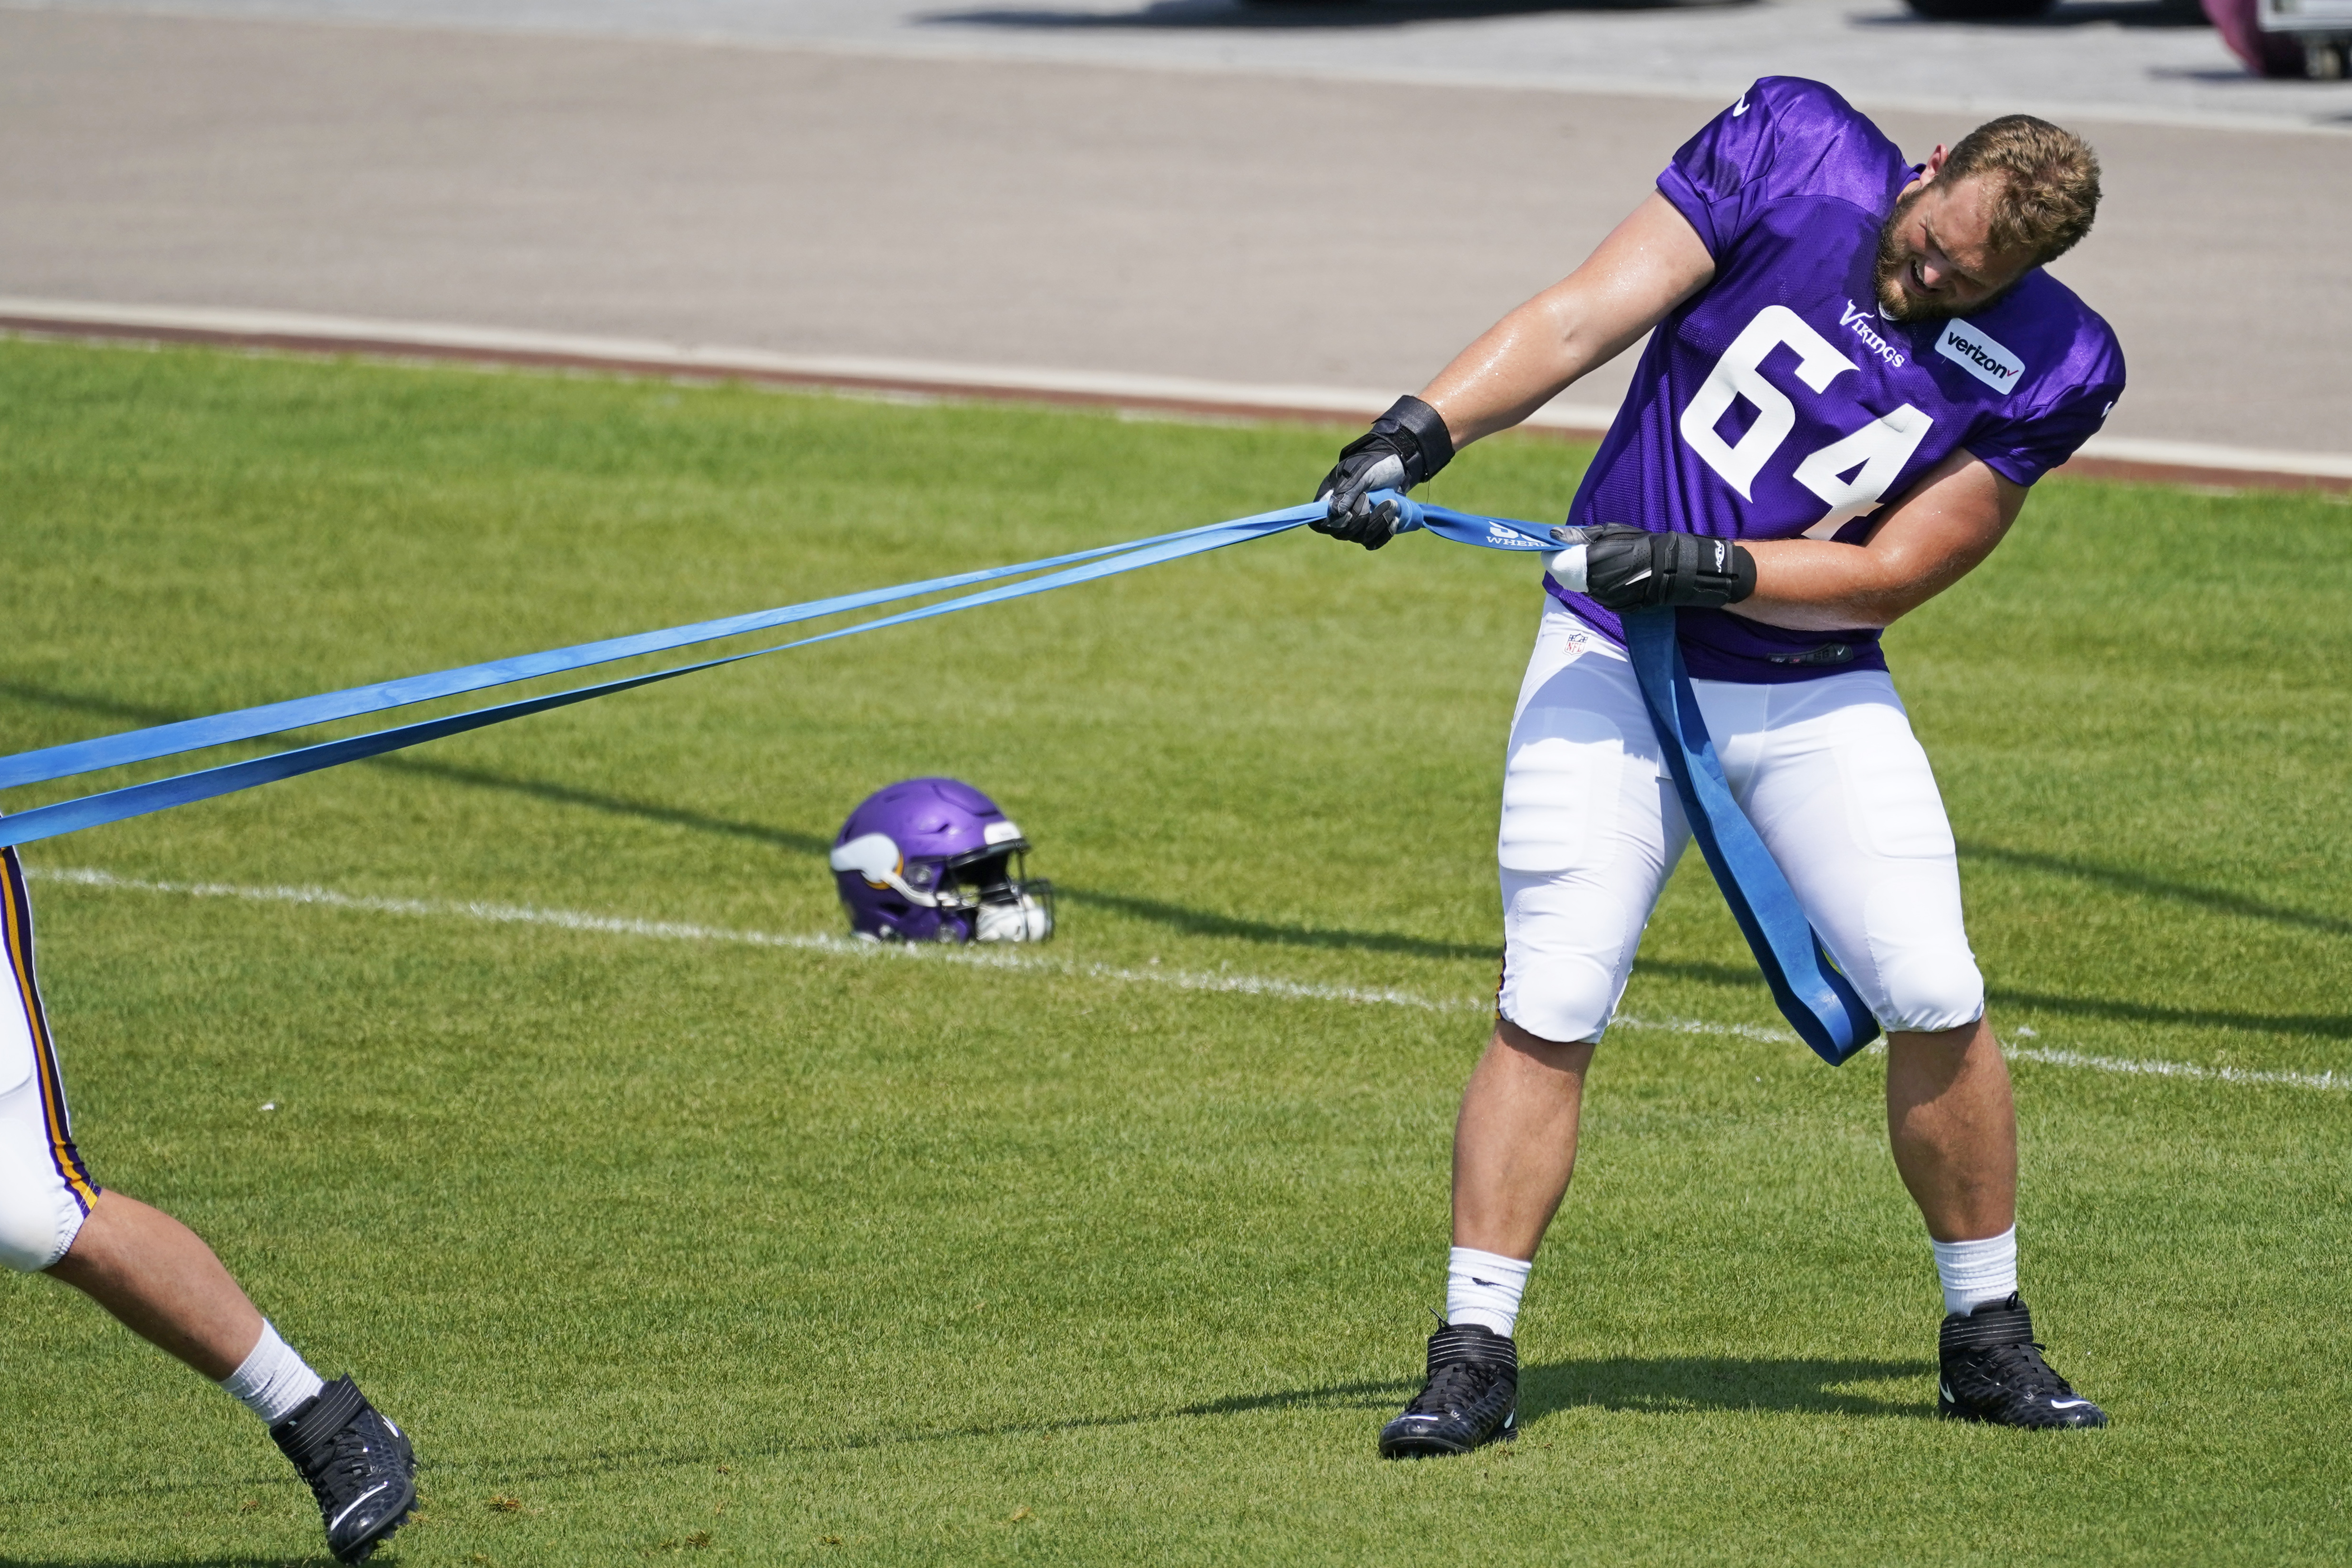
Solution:
{"label": "green mown grass field under the players and helmet", "polygon": [[[0,343],[5,743],[1263,510],[1336,437]],[[1550,517],[1581,461],[1491,442],[1432,494]],[[2213,1070],[2352,1070],[2347,536],[2051,482],[1889,637],[2098,1434],[1931,1420],[1882,1058],[1778,1034],[1691,856],[1536,1267],[1522,1441],[1374,1458],[1442,1305],[1538,616],[1526,562],[1428,538],[45,842],[42,978],[99,1180],[416,1434],[379,1561],[2345,1561],[2352,1093]],[[722,936],[837,931],[835,825],[927,771],[1037,839],[1051,947]],[[325,1561],[252,1418],[61,1286],[0,1300],[0,1563]]]}

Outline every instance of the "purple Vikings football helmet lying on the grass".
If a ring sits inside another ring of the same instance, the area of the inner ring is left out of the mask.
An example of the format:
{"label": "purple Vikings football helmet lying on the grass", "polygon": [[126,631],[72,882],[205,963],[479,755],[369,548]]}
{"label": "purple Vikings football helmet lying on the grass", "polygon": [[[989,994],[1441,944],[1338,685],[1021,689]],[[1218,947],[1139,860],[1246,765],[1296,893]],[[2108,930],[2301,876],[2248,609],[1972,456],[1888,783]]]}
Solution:
{"label": "purple Vikings football helmet lying on the grass", "polygon": [[833,839],[849,929],[877,943],[1042,943],[1054,884],[1025,870],[1021,830],[955,778],[875,790]]}

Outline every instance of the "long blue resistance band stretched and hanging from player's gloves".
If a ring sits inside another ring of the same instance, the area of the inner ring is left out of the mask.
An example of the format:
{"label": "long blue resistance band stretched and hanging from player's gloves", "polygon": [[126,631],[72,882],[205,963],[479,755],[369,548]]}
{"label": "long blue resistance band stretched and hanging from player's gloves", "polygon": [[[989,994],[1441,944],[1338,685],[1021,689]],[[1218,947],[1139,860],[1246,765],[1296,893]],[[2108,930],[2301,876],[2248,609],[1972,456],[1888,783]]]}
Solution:
{"label": "long blue resistance band stretched and hanging from player's gloves", "polygon": [[[1557,550],[1571,541],[1564,529],[1548,529],[1534,522],[1456,512],[1442,505],[1423,505],[1406,496],[1392,496],[1390,491],[1383,491],[1383,498],[1397,501],[1399,531],[1425,529],[1454,543],[1510,552]],[[49,745],[33,752],[19,752],[14,757],[0,757],[0,790],[47,783],[129,762],[151,762],[155,757],[174,757],[233,741],[273,736],[289,729],[325,724],[329,719],[350,719],[369,712],[386,712],[390,708],[409,708],[414,703],[461,696],[466,691],[482,691],[487,686],[503,686],[541,675],[560,675],[621,658],[637,658],[642,654],[661,654],[668,649],[691,646],[696,642],[717,642],[722,637],[769,630],[776,625],[873,609],[929,592],[971,588],[974,583],[1000,583],[997,588],[880,616],[875,621],[861,621],[856,625],[818,632],[816,637],[802,637],[797,642],[783,642],[769,649],[727,654],[722,658],[706,658],[689,665],[675,665],[670,670],[597,682],[572,691],[550,691],[546,696],[496,703],[492,708],[475,708],[414,724],[397,724],[393,729],[379,729],[362,736],[346,736],[341,741],[325,741],[320,745],[294,748],[245,762],[228,762],[212,769],[176,773],[172,778],[35,806],[31,811],[0,818],[0,844],[31,844],[35,839],[49,839],[82,827],[120,823],[125,818],[146,816],[167,806],[183,806],[198,799],[252,790],[254,785],[280,778],[315,773],[343,762],[381,757],[383,752],[419,745],[423,741],[459,736],[470,729],[503,724],[508,719],[548,712],[553,708],[569,708],[572,703],[586,703],[597,696],[635,691],[637,686],[652,686],[654,682],[677,679],[680,675],[694,675],[696,670],[715,670],[746,658],[760,658],[762,654],[781,654],[786,649],[802,649],[889,625],[908,625],[913,621],[946,616],[960,609],[978,609],[981,604],[1002,604],[1007,599],[1049,592],[1054,588],[1070,588],[1075,583],[1091,583],[1105,576],[1136,571],[1141,567],[1202,555],[1207,550],[1223,550],[1225,545],[1249,538],[1270,538],[1275,534],[1287,534],[1322,512],[1322,503],[1291,505],[1275,512],[1258,512],[1256,517],[1237,517],[1232,522],[1214,522],[1197,529],[1178,529],[1176,534],[1160,534],[1155,538],[1138,538],[1124,545],[1098,545],[1094,550],[1075,550],[1070,555],[1054,555],[1014,567],[962,571],[955,576],[927,578],[922,583],[811,599],[807,604],[788,604],[783,609],[748,616],[724,616],[720,621],[699,621],[659,632],[583,642],[546,654],[494,658],[489,663],[463,665],[456,670],[414,675],[372,686],[350,686],[346,691],[327,691],[322,696],[266,703],[261,708],[242,708],[202,719],[181,719],[176,724],[158,724],[120,736],[101,736],[94,741],[75,741],[71,745]],[[1044,576],[1030,576],[1018,583],[1002,581],[1021,578],[1025,574]],[[1658,726],[1661,741],[1668,743],[1668,771],[1675,776],[1684,813],[1691,818],[1691,832],[1698,839],[1708,865],[1715,870],[1715,879],[1724,889],[1724,898],[1731,903],[1731,912],[1740,922],[1748,945],[1764,966],[1764,978],[1771,983],[1773,999],[1816,1053],[1832,1065],[1846,1060],[1870,1044],[1877,1034],[1877,1025],[1870,1020],[1870,1011],[1853,994],[1846,978],[1837,973],[1837,966],[1830,961],[1828,950],[1823,950],[1820,938],[1813,936],[1811,924],[1804,919],[1804,910],[1797,905],[1797,896],[1790,891],[1780,867],[1773,863],[1764,842],[1731,799],[1731,788],[1724,783],[1722,764],[1715,759],[1715,745],[1708,738],[1708,726],[1698,715],[1698,698],[1691,691],[1691,677],[1682,668],[1682,646],[1675,642],[1672,611],[1628,616],[1625,630],[1632,642],[1635,677],[1642,684],[1644,701],[1649,703],[1651,722]]]}

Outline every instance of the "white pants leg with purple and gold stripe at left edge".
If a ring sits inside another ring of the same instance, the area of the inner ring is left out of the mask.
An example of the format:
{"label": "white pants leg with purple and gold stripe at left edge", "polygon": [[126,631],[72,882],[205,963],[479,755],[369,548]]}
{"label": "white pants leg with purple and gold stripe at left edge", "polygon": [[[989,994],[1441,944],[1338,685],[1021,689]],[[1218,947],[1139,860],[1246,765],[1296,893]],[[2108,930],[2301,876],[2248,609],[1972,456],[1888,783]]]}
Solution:
{"label": "white pants leg with purple and gold stripe at left edge", "polygon": [[99,1199],[73,1147],[66,1086],[33,983],[33,900],[14,849],[0,849],[0,1267],[66,1255]]}

